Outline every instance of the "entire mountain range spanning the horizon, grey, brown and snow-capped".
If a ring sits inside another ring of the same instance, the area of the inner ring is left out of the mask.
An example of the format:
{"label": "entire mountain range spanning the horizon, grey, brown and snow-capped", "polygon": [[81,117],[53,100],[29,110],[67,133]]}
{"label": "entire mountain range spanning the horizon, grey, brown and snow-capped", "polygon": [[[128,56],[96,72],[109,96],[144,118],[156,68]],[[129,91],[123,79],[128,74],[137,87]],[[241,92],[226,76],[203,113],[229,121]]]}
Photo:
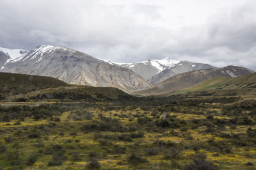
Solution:
{"label": "entire mountain range spanning the horizon, grey, brown and snow-capped", "polygon": [[[110,86],[126,92],[152,94],[166,93],[166,88],[168,92],[188,88],[213,77],[237,77],[253,71],[236,66],[216,68],[173,58],[116,63],[65,47],[39,45],[29,51],[0,48],[0,72],[44,75],[69,84]],[[164,90],[159,90],[163,86]]]}

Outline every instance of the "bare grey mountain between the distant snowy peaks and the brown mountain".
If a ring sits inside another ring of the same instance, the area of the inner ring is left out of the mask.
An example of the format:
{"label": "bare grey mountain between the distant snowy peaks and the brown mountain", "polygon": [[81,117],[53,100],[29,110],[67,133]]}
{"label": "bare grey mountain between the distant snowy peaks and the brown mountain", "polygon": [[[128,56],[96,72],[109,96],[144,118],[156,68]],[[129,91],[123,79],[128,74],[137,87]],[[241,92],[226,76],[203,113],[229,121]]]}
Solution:
{"label": "bare grey mountain between the distant snowy peaks and the brown mountain", "polygon": [[155,85],[179,73],[190,72],[193,70],[206,70],[210,68],[216,68],[216,67],[207,65],[207,64],[202,64],[202,63],[191,63],[189,61],[180,61],[179,63],[177,63],[177,65],[173,66],[172,68],[165,69],[162,72],[157,73],[156,75],[151,77],[150,83]]}

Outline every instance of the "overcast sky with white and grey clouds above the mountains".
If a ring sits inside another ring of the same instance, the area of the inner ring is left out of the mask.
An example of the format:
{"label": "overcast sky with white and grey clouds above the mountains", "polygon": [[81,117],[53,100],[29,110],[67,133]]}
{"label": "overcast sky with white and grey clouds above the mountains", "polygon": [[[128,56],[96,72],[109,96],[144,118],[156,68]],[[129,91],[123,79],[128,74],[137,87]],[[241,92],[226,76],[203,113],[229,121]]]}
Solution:
{"label": "overcast sky with white and grey clouds above the mountains", "polygon": [[1,0],[0,40],[118,62],[172,57],[256,70],[256,1]]}

